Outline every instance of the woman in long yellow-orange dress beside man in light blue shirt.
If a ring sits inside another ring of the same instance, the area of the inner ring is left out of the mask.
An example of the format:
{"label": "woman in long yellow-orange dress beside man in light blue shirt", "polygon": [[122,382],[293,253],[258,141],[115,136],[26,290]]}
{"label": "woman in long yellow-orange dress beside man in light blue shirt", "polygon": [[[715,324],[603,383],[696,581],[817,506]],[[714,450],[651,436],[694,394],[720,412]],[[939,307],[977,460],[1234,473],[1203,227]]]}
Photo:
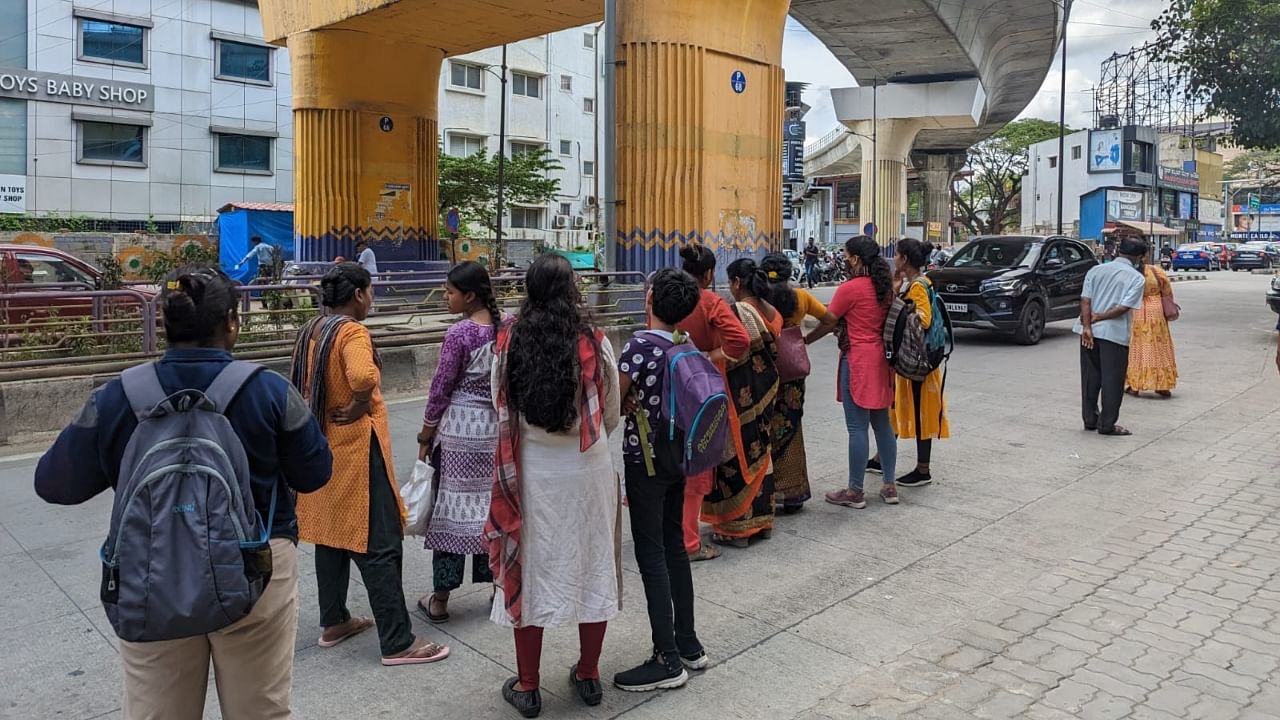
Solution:
{"label": "woman in long yellow-orange dress beside man in light blue shirt", "polygon": [[1178,386],[1178,360],[1174,357],[1174,337],[1169,334],[1165,301],[1174,297],[1174,283],[1160,265],[1146,264],[1143,275],[1147,284],[1142,290],[1142,307],[1133,313],[1133,331],[1129,337],[1129,372],[1125,386],[1129,395],[1155,392],[1170,397]]}

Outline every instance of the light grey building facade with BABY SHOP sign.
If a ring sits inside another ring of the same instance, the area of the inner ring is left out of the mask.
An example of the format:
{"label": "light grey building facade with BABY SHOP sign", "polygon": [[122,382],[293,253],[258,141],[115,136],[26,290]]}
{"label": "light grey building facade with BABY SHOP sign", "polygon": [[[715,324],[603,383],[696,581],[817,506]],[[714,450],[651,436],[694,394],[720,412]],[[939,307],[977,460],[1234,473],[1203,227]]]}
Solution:
{"label": "light grey building facade with BABY SHOP sign", "polygon": [[209,222],[293,199],[288,53],[262,42],[256,3],[3,5],[6,211]]}

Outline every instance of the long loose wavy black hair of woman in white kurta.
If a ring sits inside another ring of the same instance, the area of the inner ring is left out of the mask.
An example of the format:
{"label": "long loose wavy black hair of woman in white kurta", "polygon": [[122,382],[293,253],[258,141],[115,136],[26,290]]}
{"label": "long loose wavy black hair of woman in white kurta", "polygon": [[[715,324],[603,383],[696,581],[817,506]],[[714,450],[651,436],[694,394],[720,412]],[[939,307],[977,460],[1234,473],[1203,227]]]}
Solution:
{"label": "long loose wavy black hair of woman in white kurta", "polygon": [[595,343],[595,331],[563,256],[539,255],[525,273],[525,293],[507,348],[507,402],[530,425],[563,433],[577,421],[577,342],[585,336]]}

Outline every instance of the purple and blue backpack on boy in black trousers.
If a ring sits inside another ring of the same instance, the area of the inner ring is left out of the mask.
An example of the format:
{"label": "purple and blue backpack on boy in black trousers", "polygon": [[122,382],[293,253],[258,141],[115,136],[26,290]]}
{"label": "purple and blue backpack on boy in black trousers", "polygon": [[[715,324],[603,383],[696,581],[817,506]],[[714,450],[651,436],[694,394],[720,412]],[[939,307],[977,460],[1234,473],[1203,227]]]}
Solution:
{"label": "purple and blue backpack on boy in black trousers", "polygon": [[710,470],[724,460],[728,443],[724,378],[694,343],[672,342],[648,331],[645,334],[666,356],[662,418],[667,420],[668,439],[676,439],[677,428],[685,436],[680,466],[686,477]]}

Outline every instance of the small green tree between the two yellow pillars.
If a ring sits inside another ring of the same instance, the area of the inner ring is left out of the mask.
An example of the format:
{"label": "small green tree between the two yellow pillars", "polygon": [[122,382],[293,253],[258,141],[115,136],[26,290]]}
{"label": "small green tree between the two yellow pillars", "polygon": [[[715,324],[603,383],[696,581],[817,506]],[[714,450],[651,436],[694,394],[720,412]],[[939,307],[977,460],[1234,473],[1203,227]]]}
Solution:
{"label": "small green tree between the two yellow pillars", "polygon": [[[559,192],[559,181],[550,177],[563,167],[550,156],[547,149],[518,152],[507,158],[503,172],[503,202],[509,210],[512,204],[544,205]],[[489,237],[498,231],[498,156],[488,150],[467,158],[454,158],[440,151],[440,227],[451,208],[457,208],[461,215],[461,229],[484,228]],[[503,220],[503,228],[507,220]],[[502,261],[506,249],[494,246],[492,258],[495,266]]]}

